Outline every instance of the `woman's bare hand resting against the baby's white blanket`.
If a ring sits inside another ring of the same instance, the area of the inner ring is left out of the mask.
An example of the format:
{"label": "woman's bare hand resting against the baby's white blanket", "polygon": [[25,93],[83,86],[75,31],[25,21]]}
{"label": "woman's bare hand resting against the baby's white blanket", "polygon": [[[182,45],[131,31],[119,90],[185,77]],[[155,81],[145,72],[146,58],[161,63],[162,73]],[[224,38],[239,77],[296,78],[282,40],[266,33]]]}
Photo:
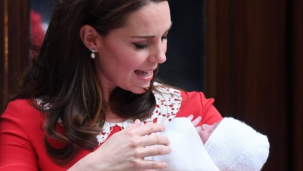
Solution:
{"label": "woman's bare hand resting against the baby's white blanket", "polygon": [[147,156],[169,154],[172,151],[171,147],[168,147],[170,142],[166,136],[148,135],[164,130],[165,126],[162,124],[147,123],[141,125],[141,122],[136,120],[133,125],[114,133],[101,147],[82,158],[69,171],[80,170],[80,163],[86,170],[94,171],[164,169],[167,167],[164,162],[144,160],[144,157]]}

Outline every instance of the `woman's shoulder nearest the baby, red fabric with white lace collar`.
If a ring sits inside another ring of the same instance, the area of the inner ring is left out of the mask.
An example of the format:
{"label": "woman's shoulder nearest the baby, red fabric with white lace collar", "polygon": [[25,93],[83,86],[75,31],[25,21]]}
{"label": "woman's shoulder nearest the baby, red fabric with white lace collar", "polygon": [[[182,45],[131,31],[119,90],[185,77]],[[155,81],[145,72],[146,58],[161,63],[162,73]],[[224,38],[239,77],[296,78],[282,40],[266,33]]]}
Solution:
{"label": "woman's shoulder nearest the baby, red fabric with white lace collar", "polygon": [[155,94],[155,97],[159,106],[158,108],[162,109],[159,110],[159,113],[168,111],[171,118],[188,117],[189,115],[194,115],[194,118],[201,116],[201,123],[207,124],[213,124],[222,120],[222,116],[212,104],[214,99],[205,98],[202,92],[186,92],[182,89],[165,85],[158,87],[157,89],[160,93]]}

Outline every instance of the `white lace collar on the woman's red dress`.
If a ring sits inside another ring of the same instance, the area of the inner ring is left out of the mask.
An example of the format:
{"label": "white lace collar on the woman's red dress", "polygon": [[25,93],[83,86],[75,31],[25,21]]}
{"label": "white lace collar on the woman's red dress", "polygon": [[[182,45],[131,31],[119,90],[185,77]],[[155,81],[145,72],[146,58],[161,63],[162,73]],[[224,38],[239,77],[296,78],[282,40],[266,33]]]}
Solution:
{"label": "white lace collar on the woman's red dress", "polygon": [[[141,122],[142,124],[145,124],[153,122],[153,120],[156,119],[156,123],[167,124],[176,117],[177,112],[179,111],[182,101],[181,93],[177,89],[168,88],[158,83],[154,83],[154,85],[157,86],[157,90],[159,91],[159,93],[153,92],[156,98],[156,107],[153,110],[152,115]],[[36,100],[37,104],[42,106],[43,100],[41,98],[36,98]],[[51,104],[46,103],[43,107],[47,110],[51,107]],[[58,122],[62,125],[62,121],[60,119]],[[114,126],[117,125],[121,129],[125,129],[133,123],[133,120],[126,120],[125,122],[119,123],[105,121],[100,134],[96,137],[99,144],[106,141]]]}

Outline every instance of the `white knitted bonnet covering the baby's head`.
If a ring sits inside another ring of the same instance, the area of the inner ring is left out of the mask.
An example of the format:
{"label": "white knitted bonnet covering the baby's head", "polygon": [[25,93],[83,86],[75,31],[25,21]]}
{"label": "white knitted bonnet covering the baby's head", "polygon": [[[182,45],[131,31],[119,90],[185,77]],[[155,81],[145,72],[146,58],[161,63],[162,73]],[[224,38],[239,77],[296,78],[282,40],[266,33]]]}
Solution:
{"label": "white knitted bonnet covering the baby's head", "polygon": [[269,155],[267,137],[233,118],[224,118],[204,146],[220,171],[260,171]]}

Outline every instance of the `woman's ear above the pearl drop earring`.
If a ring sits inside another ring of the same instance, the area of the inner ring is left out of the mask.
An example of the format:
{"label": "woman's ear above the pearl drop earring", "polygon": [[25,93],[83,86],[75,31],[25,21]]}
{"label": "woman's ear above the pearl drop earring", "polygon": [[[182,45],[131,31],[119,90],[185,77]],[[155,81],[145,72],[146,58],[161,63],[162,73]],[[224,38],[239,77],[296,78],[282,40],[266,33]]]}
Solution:
{"label": "woman's ear above the pearl drop earring", "polygon": [[99,52],[98,39],[100,35],[98,31],[91,25],[82,25],[80,28],[80,38],[83,44],[91,51],[95,49],[95,52]]}

